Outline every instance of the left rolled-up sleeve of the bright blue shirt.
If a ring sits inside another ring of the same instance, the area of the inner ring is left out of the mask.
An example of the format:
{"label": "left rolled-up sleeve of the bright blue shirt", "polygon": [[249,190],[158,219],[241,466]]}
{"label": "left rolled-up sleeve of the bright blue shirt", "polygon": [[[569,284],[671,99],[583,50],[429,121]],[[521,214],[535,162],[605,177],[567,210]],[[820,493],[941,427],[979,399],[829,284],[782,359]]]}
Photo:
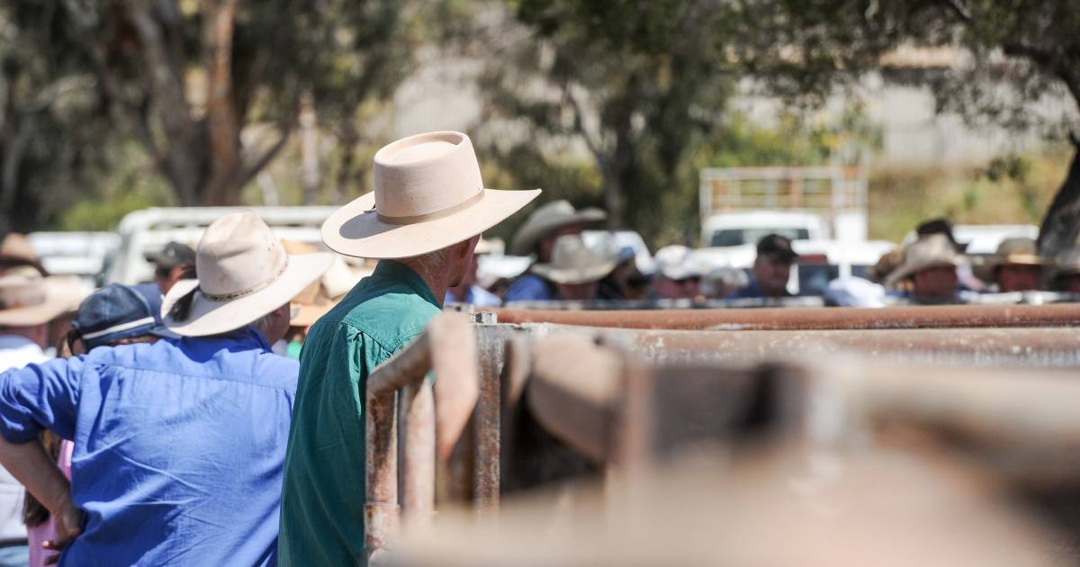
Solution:
{"label": "left rolled-up sleeve of the bright blue shirt", "polygon": [[82,356],[56,359],[0,374],[0,435],[26,443],[49,429],[75,436]]}

